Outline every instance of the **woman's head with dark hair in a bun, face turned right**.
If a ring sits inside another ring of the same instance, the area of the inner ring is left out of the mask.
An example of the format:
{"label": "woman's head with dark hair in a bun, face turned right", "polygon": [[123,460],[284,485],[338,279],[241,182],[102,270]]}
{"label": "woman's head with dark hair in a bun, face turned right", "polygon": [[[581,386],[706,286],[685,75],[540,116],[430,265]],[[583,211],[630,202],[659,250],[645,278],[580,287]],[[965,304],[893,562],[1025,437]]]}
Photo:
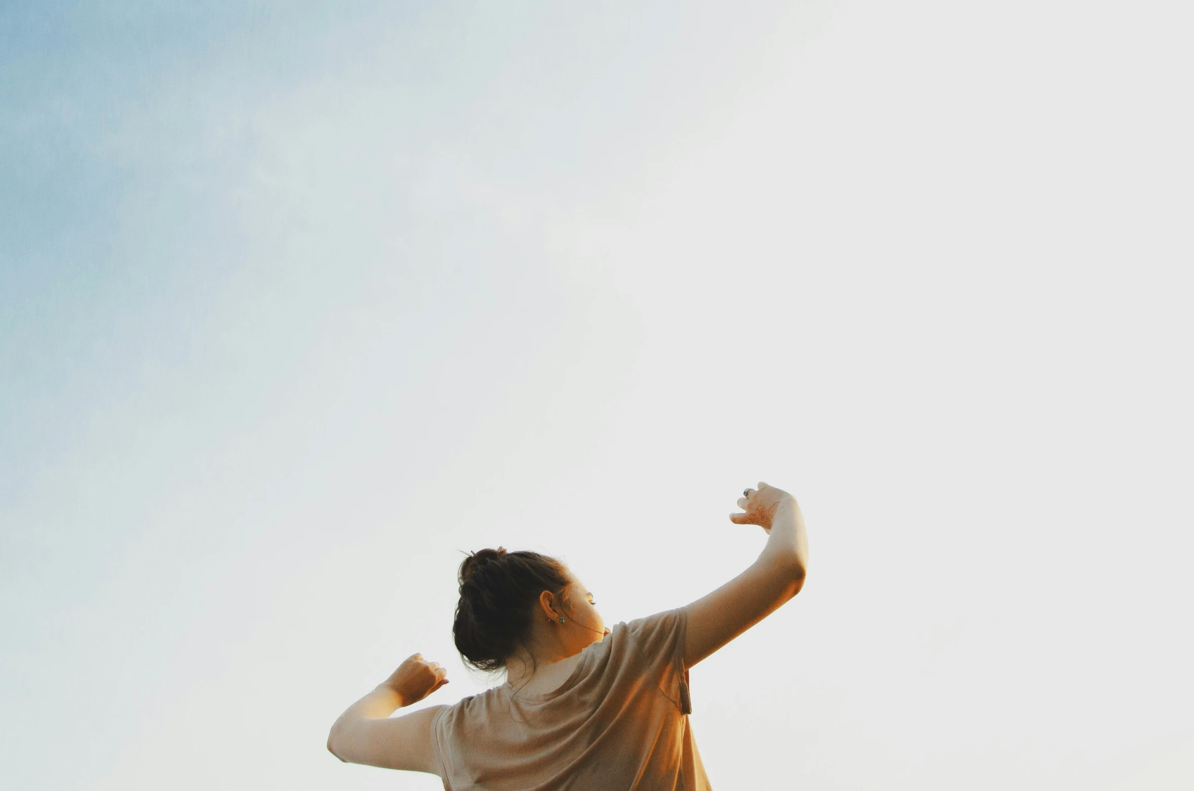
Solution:
{"label": "woman's head with dark hair in a bun, face turned right", "polygon": [[453,637],[464,660],[480,671],[503,668],[519,649],[529,650],[543,624],[553,626],[553,638],[574,644],[577,651],[604,632],[592,595],[554,557],[482,549],[464,558],[458,579]]}

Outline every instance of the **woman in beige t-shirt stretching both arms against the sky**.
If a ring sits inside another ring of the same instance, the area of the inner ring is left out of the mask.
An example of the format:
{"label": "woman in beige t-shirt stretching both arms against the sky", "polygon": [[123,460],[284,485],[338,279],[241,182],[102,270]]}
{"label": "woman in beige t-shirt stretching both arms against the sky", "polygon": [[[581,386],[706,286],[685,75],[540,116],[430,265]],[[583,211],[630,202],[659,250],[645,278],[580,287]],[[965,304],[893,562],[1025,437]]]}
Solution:
{"label": "woman in beige t-shirt stretching both arms against the sky", "polygon": [[481,550],[461,564],[453,634],[473,667],[506,682],[390,718],[448,684],[416,654],[332,725],[341,761],[430,772],[450,791],[709,787],[688,713],[688,669],[800,592],[800,506],[759,483],[730,515],[761,525],[750,568],[687,607],[605,629],[592,594],[536,552]]}

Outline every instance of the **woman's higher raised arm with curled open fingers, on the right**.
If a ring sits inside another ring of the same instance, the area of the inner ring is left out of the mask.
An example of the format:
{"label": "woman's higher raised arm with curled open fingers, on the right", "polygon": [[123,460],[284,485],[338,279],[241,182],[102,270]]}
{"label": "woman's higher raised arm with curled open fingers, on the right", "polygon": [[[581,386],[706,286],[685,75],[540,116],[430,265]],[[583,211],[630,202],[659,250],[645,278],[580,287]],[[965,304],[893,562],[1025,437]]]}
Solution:
{"label": "woman's higher raised arm with curled open fingers, on the right", "polygon": [[738,500],[745,513],[730,514],[739,525],[759,525],[767,545],[750,568],[713,593],[684,607],[688,630],[684,662],[691,667],[800,593],[808,563],[805,518],[796,499],[759,483]]}

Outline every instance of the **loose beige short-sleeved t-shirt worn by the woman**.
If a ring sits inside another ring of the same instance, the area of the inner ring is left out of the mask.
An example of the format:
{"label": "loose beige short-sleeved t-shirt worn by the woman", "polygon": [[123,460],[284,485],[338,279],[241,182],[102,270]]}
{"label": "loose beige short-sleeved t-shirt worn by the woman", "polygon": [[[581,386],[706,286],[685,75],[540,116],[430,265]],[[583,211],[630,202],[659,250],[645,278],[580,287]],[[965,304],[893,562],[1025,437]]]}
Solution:
{"label": "loose beige short-sleeved t-shirt worn by the woman", "polygon": [[448,791],[708,791],[688,724],[683,610],[617,624],[547,694],[510,684],[431,723]]}

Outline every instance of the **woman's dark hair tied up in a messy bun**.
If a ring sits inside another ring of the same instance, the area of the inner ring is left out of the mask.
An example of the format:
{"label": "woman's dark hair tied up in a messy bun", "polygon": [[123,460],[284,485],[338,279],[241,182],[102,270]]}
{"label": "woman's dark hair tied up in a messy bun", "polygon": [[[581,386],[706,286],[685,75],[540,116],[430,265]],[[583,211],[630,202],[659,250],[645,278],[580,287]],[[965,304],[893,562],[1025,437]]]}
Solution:
{"label": "woman's dark hair tied up in a messy bun", "polygon": [[473,552],[460,564],[460,601],[451,625],[456,650],[479,671],[497,671],[530,634],[533,605],[543,591],[568,587],[564,563],[501,546]]}

